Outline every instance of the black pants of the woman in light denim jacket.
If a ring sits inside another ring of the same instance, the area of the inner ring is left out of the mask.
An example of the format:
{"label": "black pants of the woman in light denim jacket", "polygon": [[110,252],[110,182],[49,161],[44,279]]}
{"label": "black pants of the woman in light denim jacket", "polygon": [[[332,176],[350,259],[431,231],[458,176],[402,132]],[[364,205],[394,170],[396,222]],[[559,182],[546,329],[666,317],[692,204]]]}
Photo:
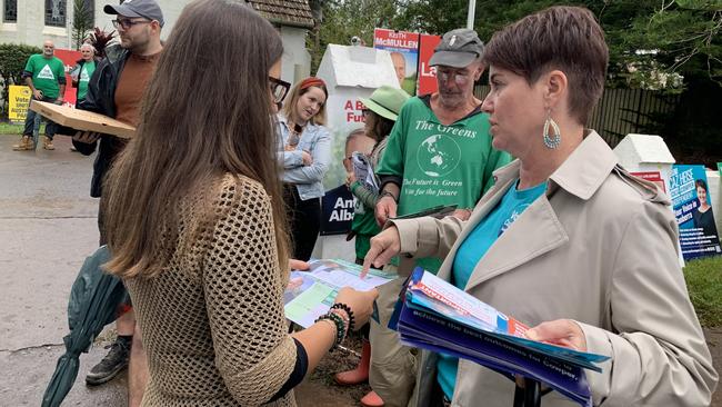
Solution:
{"label": "black pants of the woman in light denim jacket", "polygon": [[311,258],[313,246],[321,229],[321,199],[301,200],[294,185],[283,186],[283,199],[291,226],[291,239],[294,259],[307,261]]}

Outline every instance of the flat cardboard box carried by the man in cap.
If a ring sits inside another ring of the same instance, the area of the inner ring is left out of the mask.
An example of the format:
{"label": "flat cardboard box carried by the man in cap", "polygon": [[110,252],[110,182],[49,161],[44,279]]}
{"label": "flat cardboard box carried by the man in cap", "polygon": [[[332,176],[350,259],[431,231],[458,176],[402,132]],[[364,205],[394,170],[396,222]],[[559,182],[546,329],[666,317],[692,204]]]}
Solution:
{"label": "flat cardboard box carried by the man in cap", "polygon": [[30,102],[30,110],[40,113],[40,116],[60,126],[72,127],[77,130],[97,131],[124,139],[132,138],[136,135],[134,127],[92,111],[73,109],[68,106],[59,106],[38,100]]}

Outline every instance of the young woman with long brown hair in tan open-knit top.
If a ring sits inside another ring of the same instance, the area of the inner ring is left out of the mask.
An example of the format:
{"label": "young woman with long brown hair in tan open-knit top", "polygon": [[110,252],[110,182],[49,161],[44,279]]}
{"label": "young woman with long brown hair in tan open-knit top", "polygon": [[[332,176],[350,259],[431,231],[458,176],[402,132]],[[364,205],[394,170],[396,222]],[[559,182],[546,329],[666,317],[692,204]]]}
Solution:
{"label": "young woman with long brown hair in tan open-knit top", "polygon": [[137,136],[106,180],[106,268],[136,307],[150,368],[144,406],[293,406],[290,389],[353,328],[352,316],[361,326],[371,314],[375,292],[347,288],[317,324],[288,335],[269,120],[284,95],[281,53],[275,29],[244,3],[190,3]]}

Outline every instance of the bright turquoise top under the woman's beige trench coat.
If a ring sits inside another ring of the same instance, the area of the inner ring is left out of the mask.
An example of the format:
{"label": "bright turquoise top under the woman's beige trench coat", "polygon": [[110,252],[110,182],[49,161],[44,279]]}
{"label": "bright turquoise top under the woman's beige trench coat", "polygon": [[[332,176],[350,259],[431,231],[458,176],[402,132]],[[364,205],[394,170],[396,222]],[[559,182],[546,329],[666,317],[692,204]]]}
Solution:
{"label": "bright turquoise top under the woman's beige trench coat", "polygon": [[[546,182],[523,190],[517,190],[517,183],[514,182],[514,187],[509,188],[499,205],[481,219],[474,230],[459,246],[451,271],[451,282],[458,288],[467,287],[474,267],[489,248],[546,190]],[[458,367],[458,358],[439,354],[437,380],[449,399],[453,398]]]}

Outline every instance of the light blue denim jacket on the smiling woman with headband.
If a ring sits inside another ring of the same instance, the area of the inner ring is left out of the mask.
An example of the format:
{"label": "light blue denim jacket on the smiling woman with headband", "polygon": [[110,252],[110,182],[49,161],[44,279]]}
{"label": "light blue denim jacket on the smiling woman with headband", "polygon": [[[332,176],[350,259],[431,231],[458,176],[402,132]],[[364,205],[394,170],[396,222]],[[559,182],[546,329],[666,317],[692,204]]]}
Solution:
{"label": "light blue denim jacket on the smiling woman with headband", "polygon": [[[321,198],[323,176],[331,163],[331,133],[328,128],[309,122],[303,129],[301,140],[295,150],[285,151],[284,146],[289,140],[289,125],[287,118],[278,115],[279,129],[279,158],[283,163],[283,182],[293,183],[299,191],[301,200]],[[307,151],[313,157],[313,163],[303,166],[302,152]]]}

